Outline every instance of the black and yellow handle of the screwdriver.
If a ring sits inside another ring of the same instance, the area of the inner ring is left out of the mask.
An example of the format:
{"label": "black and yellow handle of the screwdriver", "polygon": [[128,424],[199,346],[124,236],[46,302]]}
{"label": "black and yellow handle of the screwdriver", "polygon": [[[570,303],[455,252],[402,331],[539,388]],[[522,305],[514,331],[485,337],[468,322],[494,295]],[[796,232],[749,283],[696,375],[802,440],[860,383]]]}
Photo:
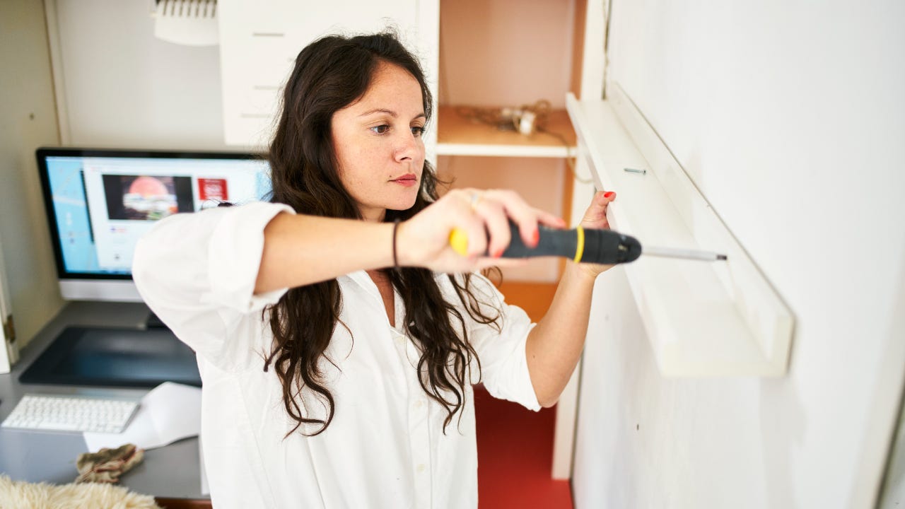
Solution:
{"label": "black and yellow handle of the screwdriver", "polygon": [[[532,248],[522,242],[519,226],[510,221],[512,239],[502,257],[565,256],[576,263],[624,264],[641,256],[641,243],[637,239],[613,230],[585,229],[581,226],[571,230],[538,226],[538,230],[538,245]],[[453,229],[450,245],[460,255],[466,255],[468,235],[462,229]]]}

